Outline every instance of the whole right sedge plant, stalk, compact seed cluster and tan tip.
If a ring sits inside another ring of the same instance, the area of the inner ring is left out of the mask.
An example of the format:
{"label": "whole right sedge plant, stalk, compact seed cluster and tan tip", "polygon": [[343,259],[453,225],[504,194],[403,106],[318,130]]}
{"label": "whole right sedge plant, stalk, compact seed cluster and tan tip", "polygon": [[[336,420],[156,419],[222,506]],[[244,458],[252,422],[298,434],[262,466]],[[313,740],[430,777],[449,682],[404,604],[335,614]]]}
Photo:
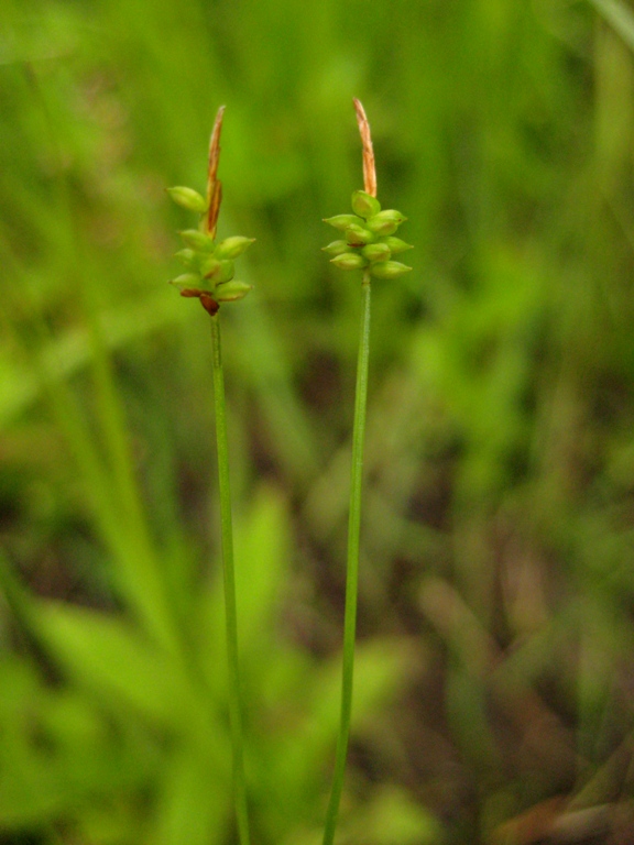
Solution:
{"label": "whole right sedge plant, stalk, compact seed cluster and tan tip", "polygon": [[346,610],[343,621],[343,665],[341,673],[341,710],[339,734],[335,753],[335,769],[330,800],[326,811],[324,845],[332,845],[339,803],[343,789],[346,759],[350,738],[352,716],[352,687],[354,677],[354,639],[357,629],[357,594],[359,584],[359,547],[361,530],[361,487],[363,478],[363,439],[365,432],[365,409],[368,405],[368,366],[370,361],[370,311],[371,282],[393,279],[409,272],[412,267],[394,261],[396,255],[412,249],[408,243],[395,237],[406,219],[394,209],[381,210],[376,199],[376,167],[372,147],[372,135],[365,111],[360,100],[354,99],[357,122],[363,147],[363,190],[352,194],[353,213],[337,215],[325,220],[339,230],[341,238],[324,250],[331,255],[331,262],[340,270],[360,270],[361,278],[361,325],[357,362],[357,386],[354,395],[354,422],[352,429],[352,470],[350,481],[350,509],[348,522],[348,559],[346,569]]}

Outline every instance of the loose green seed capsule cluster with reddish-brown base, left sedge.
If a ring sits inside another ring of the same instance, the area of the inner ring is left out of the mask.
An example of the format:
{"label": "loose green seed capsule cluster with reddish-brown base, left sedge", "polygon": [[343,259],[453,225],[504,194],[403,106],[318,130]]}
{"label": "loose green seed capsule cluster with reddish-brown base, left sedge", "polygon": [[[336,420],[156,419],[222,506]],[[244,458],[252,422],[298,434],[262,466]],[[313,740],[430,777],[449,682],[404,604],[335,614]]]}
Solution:
{"label": "loose green seed capsule cluster with reddish-brown base, left sedge", "polygon": [[[193,188],[168,188],[172,199],[189,211],[206,215],[208,204]],[[185,249],[176,253],[184,264],[186,272],[173,278],[171,284],[181,290],[181,296],[198,297],[207,310],[220,303],[242,299],[252,289],[252,285],[233,278],[236,272],[233,261],[252,243],[253,238],[234,235],[216,243],[211,234],[200,229],[186,229],[179,232],[185,242]],[[208,307],[209,303],[214,306]]]}

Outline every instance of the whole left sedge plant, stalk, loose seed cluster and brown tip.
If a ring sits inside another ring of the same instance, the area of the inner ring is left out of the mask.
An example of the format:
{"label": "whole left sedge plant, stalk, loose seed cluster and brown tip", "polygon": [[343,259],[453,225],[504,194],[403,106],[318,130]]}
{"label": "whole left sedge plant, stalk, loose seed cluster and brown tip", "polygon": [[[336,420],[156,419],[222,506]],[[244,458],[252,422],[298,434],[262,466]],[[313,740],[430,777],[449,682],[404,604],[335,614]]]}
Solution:
{"label": "whole left sedge plant, stalk, loose seed cluster and brown tip", "polygon": [[227,639],[227,663],[229,672],[229,718],[233,754],[233,794],[236,820],[240,845],[249,845],[249,814],[244,776],[244,739],[240,695],[240,671],[238,659],[238,614],[236,607],[236,575],[233,566],[233,528],[231,518],[231,492],[229,484],[229,448],[227,438],[227,411],[225,399],[225,374],[220,339],[220,306],[223,303],[242,299],[251,285],[233,278],[234,260],[253,242],[252,238],[234,235],[216,242],[216,229],[222,185],[218,179],[220,157],[220,132],[225,107],[216,116],[209,144],[207,194],[203,196],[193,188],[178,186],[168,188],[172,199],[183,208],[199,215],[196,229],[181,232],[185,248],[176,253],[186,272],[172,279],[181,296],[197,298],[211,318],[211,344],[214,370],[214,410],[216,416],[216,446],[218,452],[218,489],[220,495],[221,555],[225,588],[225,618]]}

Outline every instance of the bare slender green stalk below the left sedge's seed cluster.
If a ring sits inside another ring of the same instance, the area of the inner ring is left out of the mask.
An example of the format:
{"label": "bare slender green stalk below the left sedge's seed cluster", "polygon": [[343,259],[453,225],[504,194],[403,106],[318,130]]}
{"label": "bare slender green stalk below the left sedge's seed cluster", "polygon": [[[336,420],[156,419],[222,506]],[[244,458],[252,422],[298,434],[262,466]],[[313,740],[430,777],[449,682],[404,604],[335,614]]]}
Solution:
{"label": "bare slender green stalk below the left sedge's seed cluster", "polygon": [[231,491],[229,485],[229,447],[227,442],[227,414],[225,376],[220,343],[219,315],[211,317],[214,348],[214,408],[216,411],[216,442],[218,449],[218,485],[220,491],[220,524],[222,572],[225,581],[225,619],[227,626],[227,663],[229,672],[229,718],[233,750],[233,795],[236,819],[241,845],[249,845],[249,813],[244,777],[244,739],[238,667],[238,613],[236,610],[236,574],[233,568],[233,530],[231,525]]}

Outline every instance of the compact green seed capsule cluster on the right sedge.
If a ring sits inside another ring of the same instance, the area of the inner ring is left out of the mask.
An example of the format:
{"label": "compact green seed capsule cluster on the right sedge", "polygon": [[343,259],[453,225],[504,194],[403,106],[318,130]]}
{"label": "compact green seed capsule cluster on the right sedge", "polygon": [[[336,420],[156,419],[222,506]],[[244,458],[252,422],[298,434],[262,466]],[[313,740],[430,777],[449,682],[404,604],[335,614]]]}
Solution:
{"label": "compact green seed capsule cluster on the right sedge", "polygon": [[345,233],[345,240],[332,241],[324,251],[334,257],[332,264],[341,270],[364,270],[374,278],[397,278],[408,273],[412,267],[392,256],[412,245],[394,232],[406,220],[401,211],[394,209],[381,210],[376,197],[364,190],[352,194],[353,215],[337,215],[324,220]]}

